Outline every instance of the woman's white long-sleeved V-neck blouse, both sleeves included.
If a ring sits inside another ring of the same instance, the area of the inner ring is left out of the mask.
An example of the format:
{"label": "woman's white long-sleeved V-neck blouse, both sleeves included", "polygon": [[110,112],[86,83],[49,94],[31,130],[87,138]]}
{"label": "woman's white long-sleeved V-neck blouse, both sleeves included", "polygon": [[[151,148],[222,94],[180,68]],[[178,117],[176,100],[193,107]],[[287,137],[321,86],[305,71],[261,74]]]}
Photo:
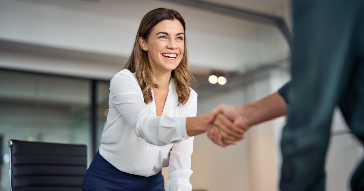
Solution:
{"label": "woman's white long-sleeved V-neck blouse, both sleeves included", "polygon": [[[191,88],[190,88],[191,89]],[[110,82],[109,111],[102,132],[100,155],[120,171],[152,176],[169,166],[167,191],[191,191],[193,137],[186,131],[186,118],[196,116],[197,93],[191,89],[185,104],[171,78],[168,95],[159,117],[153,101],[144,103],[134,74],[127,69]]]}

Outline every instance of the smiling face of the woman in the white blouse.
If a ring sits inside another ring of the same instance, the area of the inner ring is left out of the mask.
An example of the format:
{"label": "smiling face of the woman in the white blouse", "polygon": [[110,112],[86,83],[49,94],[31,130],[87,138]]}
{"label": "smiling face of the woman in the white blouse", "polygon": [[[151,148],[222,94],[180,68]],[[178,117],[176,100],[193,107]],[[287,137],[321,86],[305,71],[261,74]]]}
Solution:
{"label": "smiling face of the woman in the white blouse", "polygon": [[147,41],[139,40],[142,49],[147,50],[153,72],[172,71],[178,66],[185,50],[184,38],[182,24],[174,19],[161,21],[154,26]]}

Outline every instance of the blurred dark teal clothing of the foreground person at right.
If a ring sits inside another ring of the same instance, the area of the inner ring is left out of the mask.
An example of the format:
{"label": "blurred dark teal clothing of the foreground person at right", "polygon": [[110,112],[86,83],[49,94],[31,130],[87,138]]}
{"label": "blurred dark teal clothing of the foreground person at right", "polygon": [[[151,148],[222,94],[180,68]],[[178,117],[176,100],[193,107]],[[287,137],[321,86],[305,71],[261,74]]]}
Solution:
{"label": "blurred dark teal clothing of the foreground person at right", "polygon": [[[364,0],[293,0],[292,80],[282,132],[282,191],[324,191],[334,108],[364,140]],[[364,163],[352,180],[364,190]]]}

